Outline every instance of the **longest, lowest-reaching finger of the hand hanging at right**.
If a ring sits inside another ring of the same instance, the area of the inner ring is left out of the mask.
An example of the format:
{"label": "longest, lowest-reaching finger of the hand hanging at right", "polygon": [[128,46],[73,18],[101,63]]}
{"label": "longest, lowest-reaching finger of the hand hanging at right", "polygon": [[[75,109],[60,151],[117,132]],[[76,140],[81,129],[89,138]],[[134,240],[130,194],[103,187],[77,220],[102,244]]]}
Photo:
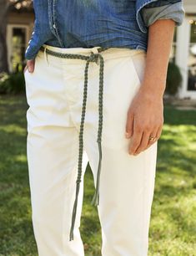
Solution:
{"label": "longest, lowest-reaching finger of the hand hanging at right", "polygon": [[143,131],[136,124],[136,121],[134,119],[133,120],[133,136],[131,137],[129,147],[128,147],[128,153],[130,155],[134,155],[135,151],[137,150],[138,146],[141,143],[142,136],[143,136]]}

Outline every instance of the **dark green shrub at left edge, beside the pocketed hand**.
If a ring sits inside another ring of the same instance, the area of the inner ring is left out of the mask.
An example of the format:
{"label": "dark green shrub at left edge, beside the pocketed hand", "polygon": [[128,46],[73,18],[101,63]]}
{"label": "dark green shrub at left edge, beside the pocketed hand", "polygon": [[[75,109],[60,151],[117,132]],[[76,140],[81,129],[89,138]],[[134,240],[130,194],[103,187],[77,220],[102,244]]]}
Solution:
{"label": "dark green shrub at left edge, beside the pocketed hand", "polygon": [[0,74],[0,94],[17,95],[25,91],[23,72]]}

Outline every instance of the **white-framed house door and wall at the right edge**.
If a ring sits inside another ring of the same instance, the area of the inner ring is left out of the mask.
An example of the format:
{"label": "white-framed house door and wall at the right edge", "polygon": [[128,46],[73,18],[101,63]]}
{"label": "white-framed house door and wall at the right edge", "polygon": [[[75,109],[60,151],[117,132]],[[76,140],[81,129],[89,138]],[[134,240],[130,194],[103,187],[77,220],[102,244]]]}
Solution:
{"label": "white-framed house door and wall at the right edge", "polygon": [[183,75],[178,97],[196,99],[196,1],[185,0],[183,6],[186,15],[177,28],[171,58],[174,57]]}

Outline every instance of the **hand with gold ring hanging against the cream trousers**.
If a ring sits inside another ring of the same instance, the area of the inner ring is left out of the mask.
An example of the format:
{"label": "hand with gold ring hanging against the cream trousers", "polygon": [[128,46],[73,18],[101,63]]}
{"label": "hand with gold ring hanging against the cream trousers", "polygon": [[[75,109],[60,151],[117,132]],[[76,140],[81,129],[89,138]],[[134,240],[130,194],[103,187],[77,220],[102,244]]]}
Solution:
{"label": "hand with gold ring hanging against the cream trousers", "polygon": [[149,94],[145,90],[138,90],[128,108],[126,124],[126,138],[131,138],[128,147],[130,155],[138,155],[146,150],[154,141],[149,136],[161,136],[163,128],[163,97]]}

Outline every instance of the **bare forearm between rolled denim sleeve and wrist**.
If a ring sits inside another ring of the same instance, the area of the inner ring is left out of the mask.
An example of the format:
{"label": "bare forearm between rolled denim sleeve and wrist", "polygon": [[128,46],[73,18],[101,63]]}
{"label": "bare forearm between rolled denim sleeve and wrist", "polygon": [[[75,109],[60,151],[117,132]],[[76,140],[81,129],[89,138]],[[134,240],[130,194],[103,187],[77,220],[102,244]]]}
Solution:
{"label": "bare forearm between rolled denim sleeve and wrist", "polygon": [[146,66],[140,89],[153,97],[162,97],[165,90],[174,25],[172,19],[159,19],[148,28]]}

